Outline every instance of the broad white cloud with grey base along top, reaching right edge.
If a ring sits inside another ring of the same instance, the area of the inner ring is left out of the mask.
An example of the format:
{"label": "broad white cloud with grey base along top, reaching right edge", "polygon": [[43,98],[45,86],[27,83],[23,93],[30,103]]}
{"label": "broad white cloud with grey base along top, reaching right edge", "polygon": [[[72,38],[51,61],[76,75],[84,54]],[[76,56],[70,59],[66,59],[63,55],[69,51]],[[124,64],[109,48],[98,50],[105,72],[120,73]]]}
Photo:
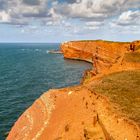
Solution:
{"label": "broad white cloud with grey base along top, reaching right edge", "polygon": [[[81,0],[75,3],[56,3],[52,8],[57,14],[71,18],[104,20],[129,9],[131,4],[131,0]],[[133,7],[140,8],[138,0],[133,0]]]}

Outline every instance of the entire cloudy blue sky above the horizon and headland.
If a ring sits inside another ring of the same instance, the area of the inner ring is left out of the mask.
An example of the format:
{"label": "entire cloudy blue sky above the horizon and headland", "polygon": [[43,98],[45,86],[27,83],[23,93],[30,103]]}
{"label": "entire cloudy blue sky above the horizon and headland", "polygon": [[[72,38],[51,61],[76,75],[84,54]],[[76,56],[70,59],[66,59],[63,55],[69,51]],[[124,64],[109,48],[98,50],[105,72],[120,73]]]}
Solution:
{"label": "entire cloudy blue sky above the horizon and headland", "polygon": [[0,0],[0,42],[140,39],[140,0]]}

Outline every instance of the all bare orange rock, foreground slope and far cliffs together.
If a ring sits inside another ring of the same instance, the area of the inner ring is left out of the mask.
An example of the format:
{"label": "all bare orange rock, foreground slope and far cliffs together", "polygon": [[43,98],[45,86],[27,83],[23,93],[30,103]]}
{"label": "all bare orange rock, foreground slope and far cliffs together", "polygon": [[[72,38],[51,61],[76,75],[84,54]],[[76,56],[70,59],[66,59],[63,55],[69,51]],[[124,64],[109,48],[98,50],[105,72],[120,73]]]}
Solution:
{"label": "all bare orange rock, foreground slope and far cliffs together", "polygon": [[[91,76],[90,85],[98,75],[135,69],[136,65],[140,68],[138,63],[130,65],[124,59],[126,54],[133,53],[130,45],[139,52],[140,41],[119,43],[101,40],[63,43],[61,51],[65,58],[93,63],[94,70],[86,72],[86,76]],[[139,138],[140,129],[134,122],[116,114],[106,97],[80,85],[44,93],[17,120],[7,140]]]}

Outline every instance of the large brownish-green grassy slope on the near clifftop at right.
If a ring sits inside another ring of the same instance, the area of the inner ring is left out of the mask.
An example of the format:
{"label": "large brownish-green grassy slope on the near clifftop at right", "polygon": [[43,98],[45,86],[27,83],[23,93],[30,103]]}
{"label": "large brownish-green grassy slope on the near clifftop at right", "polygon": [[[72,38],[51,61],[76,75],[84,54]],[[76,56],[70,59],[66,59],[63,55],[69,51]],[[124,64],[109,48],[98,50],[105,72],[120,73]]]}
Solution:
{"label": "large brownish-green grassy slope on the near clifftop at right", "polygon": [[110,74],[91,88],[108,96],[128,118],[140,125],[140,70]]}

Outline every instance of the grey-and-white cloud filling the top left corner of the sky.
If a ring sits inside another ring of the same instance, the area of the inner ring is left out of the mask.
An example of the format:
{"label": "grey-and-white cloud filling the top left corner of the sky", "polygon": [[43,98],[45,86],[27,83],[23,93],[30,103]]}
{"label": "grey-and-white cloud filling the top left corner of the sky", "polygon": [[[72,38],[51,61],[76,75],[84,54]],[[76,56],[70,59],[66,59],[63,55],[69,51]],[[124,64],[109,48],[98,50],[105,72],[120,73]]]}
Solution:
{"label": "grey-and-white cloud filling the top left corner of the sky", "polygon": [[[1,11],[9,14],[10,19],[29,21],[29,18],[47,17],[47,0],[0,0]],[[10,21],[9,21],[10,23]]]}

